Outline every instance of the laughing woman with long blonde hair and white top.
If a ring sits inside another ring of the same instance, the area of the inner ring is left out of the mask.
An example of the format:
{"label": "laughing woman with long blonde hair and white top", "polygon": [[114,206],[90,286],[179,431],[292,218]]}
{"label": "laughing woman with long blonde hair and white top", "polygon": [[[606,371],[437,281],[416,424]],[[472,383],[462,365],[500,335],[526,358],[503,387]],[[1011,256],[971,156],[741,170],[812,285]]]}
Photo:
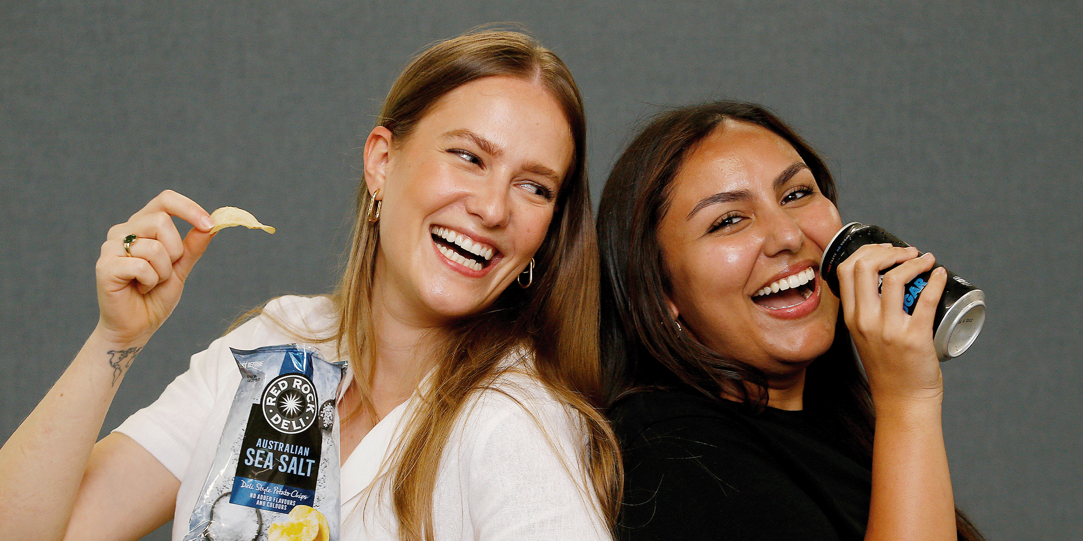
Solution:
{"label": "laughing woman with long blonde hair and white top", "polygon": [[[571,74],[530,37],[432,45],[365,142],[334,294],[272,301],[95,444],[213,236],[203,208],[164,192],[109,230],[97,327],[0,450],[0,527],[116,540],[174,518],[180,539],[240,380],[230,349],[301,339],[350,364],[338,400],[343,539],[606,539],[618,480],[596,410],[585,140]],[[183,239],[172,216],[194,226]]]}

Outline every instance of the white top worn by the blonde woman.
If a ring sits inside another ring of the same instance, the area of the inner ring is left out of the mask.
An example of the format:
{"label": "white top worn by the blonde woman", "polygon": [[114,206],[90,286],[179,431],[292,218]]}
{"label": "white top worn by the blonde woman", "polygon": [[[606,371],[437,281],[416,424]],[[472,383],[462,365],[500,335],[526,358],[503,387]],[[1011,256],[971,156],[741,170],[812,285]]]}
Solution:
{"label": "white top worn by the blonde woman", "polygon": [[[275,299],[264,315],[193,355],[188,370],[154,404],[117,427],[181,480],[174,541],[187,533],[240,382],[230,347],[297,342],[265,314],[302,329],[327,329],[335,321],[326,298]],[[608,540],[577,458],[586,435],[570,408],[524,373],[501,377],[495,387],[465,405],[444,448],[432,502],[435,539]],[[343,540],[397,539],[397,519],[381,474],[384,457],[402,443],[403,425],[417,404],[415,395],[392,410],[342,464]]]}

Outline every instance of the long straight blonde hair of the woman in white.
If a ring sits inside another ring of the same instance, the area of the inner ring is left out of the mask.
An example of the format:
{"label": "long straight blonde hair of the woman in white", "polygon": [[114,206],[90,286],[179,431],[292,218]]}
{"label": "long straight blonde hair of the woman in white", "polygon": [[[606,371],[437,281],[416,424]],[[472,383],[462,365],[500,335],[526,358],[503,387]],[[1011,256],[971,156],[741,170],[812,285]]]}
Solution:
{"label": "long straight blonde hair of the woman in white", "polygon": [[[598,349],[598,256],[591,225],[586,175],[586,119],[583,100],[567,67],[533,38],[516,31],[478,31],[438,42],[415,57],[395,81],[377,126],[402,144],[448,92],[485,77],[516,77],[549,91],[563,109],[575,154],[557,197],[548,233],[534,255],[534,279],[527,289],[508,288],[494,305],[444,329],[440,361],[422,388],[406,428],[405,445],[387,465],[400,535],[432,540],[432,494],[441,454],[465,404],[506,370],[501,361],[516,351],[533,353],[533,374],[574,412],[587,441],[573,471],[587,475],[587,500],[612,525],[619,494],[619,451],[600,412],[604,404]],[[376,335],[373,326],[373,277],[379,250],[379,222],[366,209],[371,195],[364,182],[357,192],[357,215],[349,260],[331,295],[339,355],[354,367],[353,384],[361,409],[371,409]],[[514,367],[523,369],[524,367]]]}

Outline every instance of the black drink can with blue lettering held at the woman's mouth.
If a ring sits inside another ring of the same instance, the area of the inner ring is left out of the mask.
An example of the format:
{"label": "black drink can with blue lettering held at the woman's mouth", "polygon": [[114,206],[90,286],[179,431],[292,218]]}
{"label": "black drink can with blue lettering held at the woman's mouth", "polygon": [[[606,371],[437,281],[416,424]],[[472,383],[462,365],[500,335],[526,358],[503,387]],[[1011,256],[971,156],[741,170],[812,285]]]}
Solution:
{"label": "black drink can with blue lettering held at the woman's mouth", "polygon": [[[835,237],[827,245],[827,249],[823,251],[823,259],[820,260],[820,275],[836,296],[838,295],[838,276],[836,275],[838,265],[858,248],[864,245],[880,243],[902,248],[910,247],[877,225],[850,222],[835,234]],[[936,263],[932,269],[942,266],[940,263]],[[906,314],[914,311],[917,299],[928,283],[932,269],[917,275],[916,278],[906,283],[902,300],[902,307]],[[884,269],[880,274],[888,270],[890,268]],[[978,333],[981,332],[981,326],[986,322],[986,294],[947,267],[944,270],[948,270],[948,285],[940,296],[940,305],[937,306],[932,321],[932,345],[941,361],[958,357],[967,347],[970,347],[974,340],[978,338]]]}

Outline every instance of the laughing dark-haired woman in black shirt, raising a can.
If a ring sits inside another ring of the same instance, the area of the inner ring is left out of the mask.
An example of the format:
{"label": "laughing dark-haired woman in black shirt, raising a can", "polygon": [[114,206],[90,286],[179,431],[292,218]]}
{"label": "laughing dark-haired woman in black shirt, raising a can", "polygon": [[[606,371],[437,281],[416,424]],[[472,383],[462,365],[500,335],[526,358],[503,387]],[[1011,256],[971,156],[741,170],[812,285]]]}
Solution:
{"label": "laughing dark-haired woman in black shirt, raising a can", "polygon": [[598,232],[623,536],[980,539],[943,446],[944,273],[909,316],[902,286],[934,258],[866,246],[836,298],[819,272],[835,201],[823,161],[753,104],[662,114],[617,160]]}

